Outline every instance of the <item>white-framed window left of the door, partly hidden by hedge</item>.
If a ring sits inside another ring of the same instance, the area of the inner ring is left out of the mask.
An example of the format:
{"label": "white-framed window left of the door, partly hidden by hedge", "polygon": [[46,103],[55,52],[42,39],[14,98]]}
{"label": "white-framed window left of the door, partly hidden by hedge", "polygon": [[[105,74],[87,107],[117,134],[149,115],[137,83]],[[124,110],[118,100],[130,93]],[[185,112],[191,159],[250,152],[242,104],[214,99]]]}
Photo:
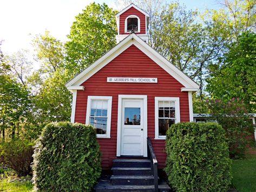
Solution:
{"label": "white-framed window left of the door, partly hidden by hedge", "polygon": [[97,137],[110,138],[112,97],[88,96],[86,124],[96,128]]}

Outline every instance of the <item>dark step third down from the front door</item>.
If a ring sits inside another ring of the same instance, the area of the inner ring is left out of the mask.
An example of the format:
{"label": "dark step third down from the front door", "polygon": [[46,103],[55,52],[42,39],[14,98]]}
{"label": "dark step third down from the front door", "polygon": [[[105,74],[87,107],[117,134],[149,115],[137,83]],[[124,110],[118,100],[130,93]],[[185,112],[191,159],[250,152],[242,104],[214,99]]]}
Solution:
{"label": "dark step third down from the front door", "polygon": [[110,180],[113,185],[144,186],[154,184],[152,175],[112,175]]}

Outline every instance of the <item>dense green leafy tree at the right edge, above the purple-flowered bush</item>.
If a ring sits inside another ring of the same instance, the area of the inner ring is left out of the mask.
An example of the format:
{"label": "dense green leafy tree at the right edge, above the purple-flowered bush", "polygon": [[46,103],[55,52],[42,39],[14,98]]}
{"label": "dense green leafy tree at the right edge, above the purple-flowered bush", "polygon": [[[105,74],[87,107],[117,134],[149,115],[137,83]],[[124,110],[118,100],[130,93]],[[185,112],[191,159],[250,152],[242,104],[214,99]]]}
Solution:
{"label": "dense green leafy tree at the right edge, above the purple-flowered bush", "polygon": [[224,101],[240,98],[249,112],[256,112],[256,34],[238,37],[218,64],[211,65],[207,91]]}

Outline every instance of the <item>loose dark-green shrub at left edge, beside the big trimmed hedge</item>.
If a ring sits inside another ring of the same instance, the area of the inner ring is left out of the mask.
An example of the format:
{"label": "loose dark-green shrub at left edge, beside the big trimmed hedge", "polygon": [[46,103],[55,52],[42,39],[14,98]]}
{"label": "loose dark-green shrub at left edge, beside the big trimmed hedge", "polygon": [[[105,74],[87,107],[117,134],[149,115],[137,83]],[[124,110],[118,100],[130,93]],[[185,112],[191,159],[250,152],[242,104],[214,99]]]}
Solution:
{"label": "loose dark-green shrub at left edge, beside the big trimmed hedge", "polygon": [[27,140],[11,140],[0,143],[0,161],[19,176],[31,174],[32,155],[34,142]]}

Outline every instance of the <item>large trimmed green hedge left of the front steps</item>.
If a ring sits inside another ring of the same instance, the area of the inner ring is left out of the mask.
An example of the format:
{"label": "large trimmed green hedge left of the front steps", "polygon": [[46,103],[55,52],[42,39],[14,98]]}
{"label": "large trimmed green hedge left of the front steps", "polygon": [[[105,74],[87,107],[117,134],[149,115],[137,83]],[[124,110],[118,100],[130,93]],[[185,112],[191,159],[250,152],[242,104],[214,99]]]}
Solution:
{"label": "large trimmed green hedge left of the front steps", "polygon": [[33,180],[40,191],[90,191],[101,174],[95,129],[50,123],[35,146]]}

